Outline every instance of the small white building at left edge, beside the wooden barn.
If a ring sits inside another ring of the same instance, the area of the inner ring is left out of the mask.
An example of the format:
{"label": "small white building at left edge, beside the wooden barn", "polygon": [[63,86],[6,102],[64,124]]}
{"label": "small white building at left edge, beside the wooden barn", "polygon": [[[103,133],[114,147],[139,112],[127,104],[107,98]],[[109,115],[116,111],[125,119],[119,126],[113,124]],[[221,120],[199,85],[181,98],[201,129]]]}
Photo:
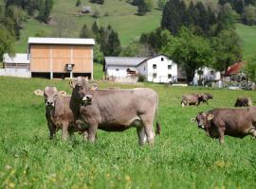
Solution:
{"label": "small white building at left edge, beside the wooden barn", "polygon": [[31,77],[29,70],[29,59],[27,54],[3,55],[3,69],[0,76],[9,77]]}

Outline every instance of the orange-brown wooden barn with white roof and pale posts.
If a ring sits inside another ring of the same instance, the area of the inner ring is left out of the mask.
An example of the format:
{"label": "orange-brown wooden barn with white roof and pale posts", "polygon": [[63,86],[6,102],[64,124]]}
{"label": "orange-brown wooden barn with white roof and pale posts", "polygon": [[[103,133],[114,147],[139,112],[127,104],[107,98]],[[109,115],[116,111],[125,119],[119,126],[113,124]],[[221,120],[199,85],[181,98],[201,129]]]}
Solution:
{"label": "orange-brown wooden barn with white roof and pale posts", "polygon": [[28,38],[32,77],[93,78],[94,39]]}

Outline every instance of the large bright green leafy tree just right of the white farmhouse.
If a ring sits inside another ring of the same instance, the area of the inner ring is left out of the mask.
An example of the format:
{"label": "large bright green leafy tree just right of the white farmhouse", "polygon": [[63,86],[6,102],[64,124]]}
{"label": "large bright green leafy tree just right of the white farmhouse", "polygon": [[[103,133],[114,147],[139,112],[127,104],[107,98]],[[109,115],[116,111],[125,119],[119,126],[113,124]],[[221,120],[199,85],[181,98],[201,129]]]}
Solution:
{"label": "large bright green leafy tree just right of the white farmhouse", "polygon": [[189,83],[196,69],[212,61],[209,40],[194,35],[187,27],[182,27],[177,37],[170,36],[161,52],[184,68]]}

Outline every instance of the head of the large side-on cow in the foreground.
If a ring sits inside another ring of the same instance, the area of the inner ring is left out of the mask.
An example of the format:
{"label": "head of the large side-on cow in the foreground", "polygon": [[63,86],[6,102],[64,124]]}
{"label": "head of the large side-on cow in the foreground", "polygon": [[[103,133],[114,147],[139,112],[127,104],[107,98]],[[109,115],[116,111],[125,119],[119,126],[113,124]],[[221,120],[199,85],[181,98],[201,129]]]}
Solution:
{"label": "head of the large side-on cow in the foreground", "polygon": [[90,84],[87,77],[76,77],[70,80],[69,85],[73,88],[72,97],[83,106],[92,104],[91,91],[97,90],[97,84]]}

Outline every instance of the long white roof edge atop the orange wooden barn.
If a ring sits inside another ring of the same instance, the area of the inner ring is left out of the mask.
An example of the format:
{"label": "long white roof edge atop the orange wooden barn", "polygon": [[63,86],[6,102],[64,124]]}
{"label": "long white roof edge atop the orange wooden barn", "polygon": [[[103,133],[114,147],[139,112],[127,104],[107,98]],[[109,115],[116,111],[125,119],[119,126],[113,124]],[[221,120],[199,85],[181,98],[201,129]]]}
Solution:
{"label": "long white roof edge atop the orange wooden barn", "polygon": [[84,38],[28,38],[28,44],[95,44],[94,39]]}

